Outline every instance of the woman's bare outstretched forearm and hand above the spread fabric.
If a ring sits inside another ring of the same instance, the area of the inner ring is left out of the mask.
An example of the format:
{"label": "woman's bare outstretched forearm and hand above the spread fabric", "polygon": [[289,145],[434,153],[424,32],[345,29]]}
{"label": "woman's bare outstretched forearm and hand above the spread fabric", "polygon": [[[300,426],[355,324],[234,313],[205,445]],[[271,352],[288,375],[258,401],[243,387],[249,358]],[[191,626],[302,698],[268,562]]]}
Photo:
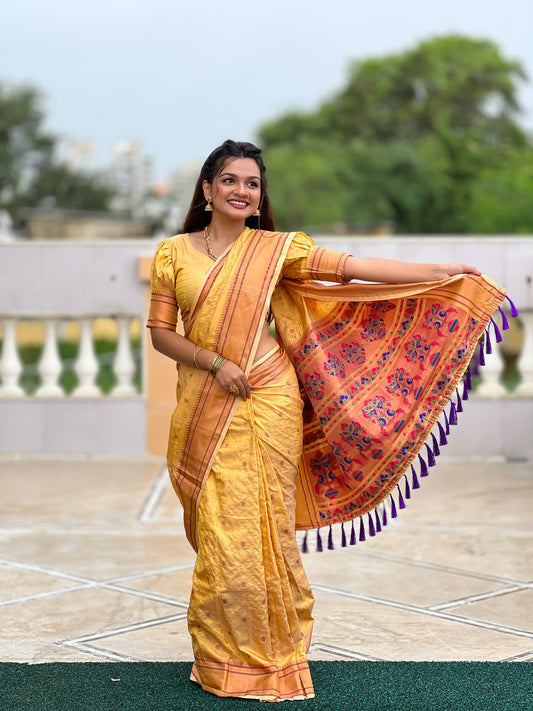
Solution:
{"label": "woman's bare outstretched forearm and hand above the spread fabric", "polygon": [[413,264],[392,259],[356,259],[349,257],[344,269],[346,281],[382,282],[385,284],[410,284],[419,281],[439,281],[456,274],[476,274],[481,272],[468,264]]}

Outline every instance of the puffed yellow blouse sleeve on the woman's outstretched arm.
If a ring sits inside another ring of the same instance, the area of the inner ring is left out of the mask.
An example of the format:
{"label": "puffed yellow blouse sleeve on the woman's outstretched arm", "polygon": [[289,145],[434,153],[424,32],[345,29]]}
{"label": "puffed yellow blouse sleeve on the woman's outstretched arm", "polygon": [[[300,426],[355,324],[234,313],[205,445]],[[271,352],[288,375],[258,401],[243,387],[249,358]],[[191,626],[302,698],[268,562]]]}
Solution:
{"label": "puffed yellow blouse sleeve on the woman's outstretched arm", "polygon": [[286,279],[345,282],[349,254],[318,247],[311,237],[297,232],[289,247],[282,274]]}

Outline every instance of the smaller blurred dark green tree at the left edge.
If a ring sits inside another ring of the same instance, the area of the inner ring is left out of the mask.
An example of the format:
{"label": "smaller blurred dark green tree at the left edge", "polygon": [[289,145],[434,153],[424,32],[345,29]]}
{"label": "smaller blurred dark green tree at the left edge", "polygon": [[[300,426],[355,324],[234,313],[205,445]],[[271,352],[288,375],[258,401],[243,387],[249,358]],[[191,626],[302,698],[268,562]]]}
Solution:
{"label": "smaller blurred dark green tree at the left edge", "polygon": [[0,209],[17,218],[22,207],[106,209],[112,191],[60,163],[58,139],[43,126],[42,97],[31,86],[0,83]]}

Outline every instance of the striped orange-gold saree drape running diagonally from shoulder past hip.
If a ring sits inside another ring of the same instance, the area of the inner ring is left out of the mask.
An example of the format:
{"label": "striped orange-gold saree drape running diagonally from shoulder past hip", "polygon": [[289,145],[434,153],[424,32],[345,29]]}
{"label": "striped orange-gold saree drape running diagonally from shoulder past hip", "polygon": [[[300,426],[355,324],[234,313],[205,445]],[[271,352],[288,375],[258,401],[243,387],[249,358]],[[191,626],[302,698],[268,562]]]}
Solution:
{"label": "striped orange-gold saree drape running diagonally from shoulder past hip", "polygon": [[[249,374],[270,297],[292,240],[286,232],[246,228],[206,275],[185,335]],[[181,365],[167,461],[195,550],[199,496],[236,405],[206,371]],[[181,381],[181,382],[180,382]]]}

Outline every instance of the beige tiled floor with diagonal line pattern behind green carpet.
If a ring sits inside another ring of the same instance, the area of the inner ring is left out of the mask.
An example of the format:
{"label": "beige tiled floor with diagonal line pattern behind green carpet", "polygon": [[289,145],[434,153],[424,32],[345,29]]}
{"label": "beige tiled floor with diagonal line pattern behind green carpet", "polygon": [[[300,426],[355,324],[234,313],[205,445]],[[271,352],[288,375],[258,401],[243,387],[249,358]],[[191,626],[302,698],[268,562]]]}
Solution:
{"label": "beige tiled floor with diagonal line pattern behind green carpet", "polygon": [[[160,460],[0,461],[0,661],[183,661],[194,554]],[[533,661],[533,463],[439,463],[304,556],[311,659]]]}

